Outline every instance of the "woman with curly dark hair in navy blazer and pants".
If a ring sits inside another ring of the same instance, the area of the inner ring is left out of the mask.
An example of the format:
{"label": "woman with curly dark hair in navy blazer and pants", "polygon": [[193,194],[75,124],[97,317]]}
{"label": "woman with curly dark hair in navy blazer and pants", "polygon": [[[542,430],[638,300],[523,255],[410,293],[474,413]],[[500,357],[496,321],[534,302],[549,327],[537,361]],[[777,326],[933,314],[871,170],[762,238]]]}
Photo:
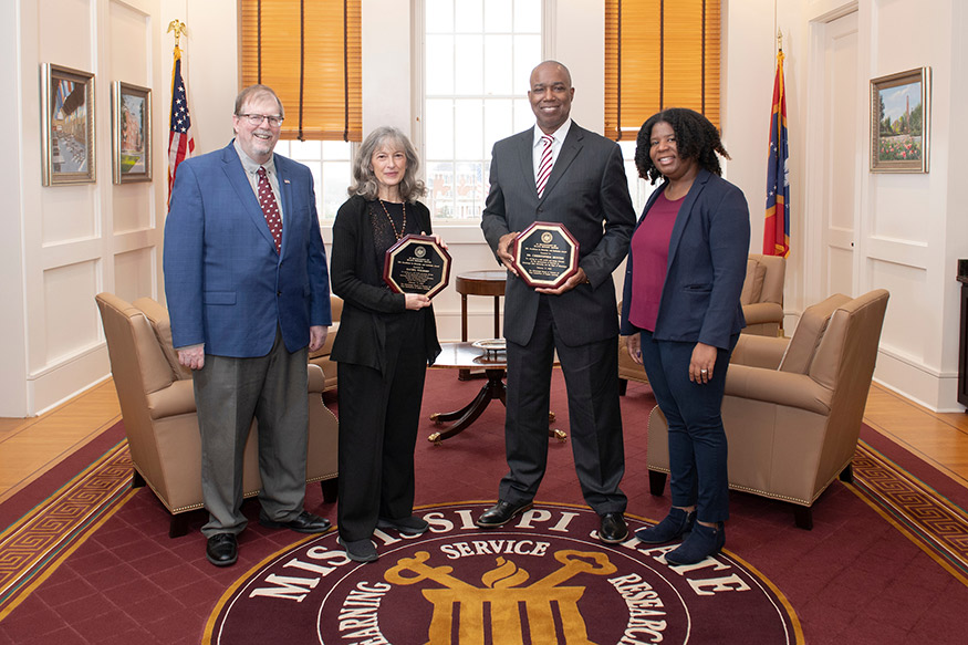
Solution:
{"label": "woman with curly dark hair in navy blazer and pants", "polygon": [[635,165],[659,188],[632,236],[622,334],[645,366],[669,425],[673,508],[635,537],[672,542],[674,564],[719,552],[729,517],[726,433],[720,408],[729,356],[746,326],[740,292],[749,253],[749,208],[722,179],[719,132],[701,114],[668,108],[638,133]]}

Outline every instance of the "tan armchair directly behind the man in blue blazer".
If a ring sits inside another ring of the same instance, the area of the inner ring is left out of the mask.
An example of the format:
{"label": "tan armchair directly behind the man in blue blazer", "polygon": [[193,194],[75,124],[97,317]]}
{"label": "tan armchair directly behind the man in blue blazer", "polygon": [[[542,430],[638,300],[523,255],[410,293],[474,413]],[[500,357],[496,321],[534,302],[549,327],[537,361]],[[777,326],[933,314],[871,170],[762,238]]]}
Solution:
{"label": "tan armchair directly behind the man in blue blazer", "polygon": [[[129,304],[111,293],[96,297],[111,372],[131,448],[132,487],[147,483],[171,513],[168,534],[187,532],[185,513],[202,508],[201,438],[190,372],[171,346],[167,310],[149,298]],[[320,481],[326,502],[336,499],[337,423],[322,402],[323,372],[309,366],[310,436],[306,482]],[[258,495],[257,424],[246,444],[243,490]]]}

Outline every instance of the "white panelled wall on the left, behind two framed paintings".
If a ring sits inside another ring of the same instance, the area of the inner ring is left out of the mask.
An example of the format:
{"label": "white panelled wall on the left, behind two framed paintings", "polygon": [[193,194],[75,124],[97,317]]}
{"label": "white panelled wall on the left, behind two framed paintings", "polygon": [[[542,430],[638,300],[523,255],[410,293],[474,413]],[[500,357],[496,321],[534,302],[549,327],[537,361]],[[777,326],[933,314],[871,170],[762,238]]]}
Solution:
{"label": "white panelled wall on the left, behind two framed paintings", "polygon": [[[94,294],[157,294],[164,181],[112,184],[110,124],[113,81],[162,84],[160,34],[157,0],[18,0],[0,11],[8,63],[0,73],[13,90],[0,100],[2,128],[14,142],[0,160],[11,196],[0,223],[0,416],[28,416],[106,376]],[[95,75],[93,184],[41,186],[41,63]],[[165,171],[157,103],[154,116],[157,177]]]}

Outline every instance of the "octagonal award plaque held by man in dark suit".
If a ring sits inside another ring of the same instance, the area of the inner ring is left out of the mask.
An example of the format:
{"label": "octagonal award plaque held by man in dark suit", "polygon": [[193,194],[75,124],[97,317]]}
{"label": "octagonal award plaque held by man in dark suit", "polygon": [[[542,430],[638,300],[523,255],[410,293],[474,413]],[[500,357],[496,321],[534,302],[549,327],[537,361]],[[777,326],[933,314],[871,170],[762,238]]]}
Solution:
{"label": "octagonal award plaque held by man in dark suit", "polygon": [[579,272],[579,242],[563,223],[535,221],[511,245],[514,272],[542,292],[560,289]]}

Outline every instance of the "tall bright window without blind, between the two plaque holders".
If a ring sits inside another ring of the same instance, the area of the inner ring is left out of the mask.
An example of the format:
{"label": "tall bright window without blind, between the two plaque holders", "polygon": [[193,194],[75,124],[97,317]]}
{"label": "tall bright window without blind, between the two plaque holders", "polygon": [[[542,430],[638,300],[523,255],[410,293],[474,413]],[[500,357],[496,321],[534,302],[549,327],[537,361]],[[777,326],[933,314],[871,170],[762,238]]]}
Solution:
{"label": "tall bright window without blind, between the two plaque holders", "polygon": [[435,218],[478,220],[491,146],[531,126],[541,0],[425,0],[423,145]]}

